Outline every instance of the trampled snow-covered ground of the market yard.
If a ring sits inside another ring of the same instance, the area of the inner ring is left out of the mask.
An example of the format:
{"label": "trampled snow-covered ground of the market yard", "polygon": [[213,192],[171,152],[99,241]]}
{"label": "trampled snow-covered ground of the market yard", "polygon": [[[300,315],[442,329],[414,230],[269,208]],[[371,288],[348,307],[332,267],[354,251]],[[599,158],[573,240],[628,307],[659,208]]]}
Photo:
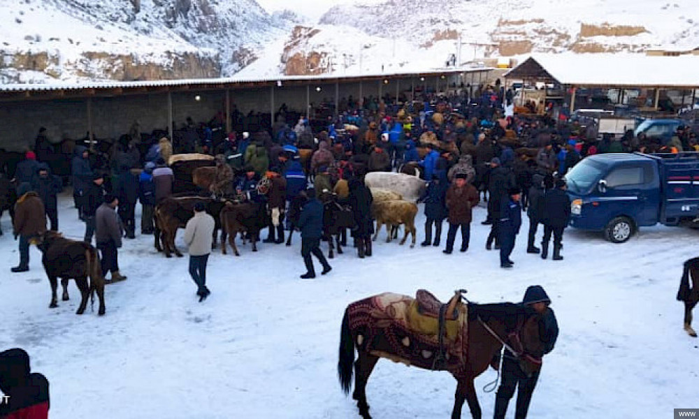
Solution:
{"label": "trampled snow-covered ground of the market yard", "polygon": [[[71,198],[62,196],[59,205],[62,231],[82,237]],[[140,236],[124,242],[120,266],[129,279],[107,286],[107,314],[99,318],[89,309],[75,315],[73,282],[71,301],[48,309],[50,287],[36,248],[31,270],[10,274],[17,242],[4,216],[0,349],[25,348],[33,368],[49,378],[52,419],[355,418],[336,378],[349,302],[417,288],[442,299],[468,288],[474,301],[519,301],[526,286],[541,284],[561,336],[545,358],[531,417],[669,418],[673,408],[699,407],[699,341],[682,330],[675,301],[682,262],[696,256],[695,231],[645,228],[619,245],[567,230],[565,260],[553,262],[525,253],[525,221],[515,268],[505,271],[497,251],[484,249],[484,218],[477,208],[467,253],[387,244],[382,233],[375,256],[360,260],[348,249],[331,260],[330,274],[312,281],[298,279],[298,235],[291,248],[261,244],[252,253],[247,246],[239,258],[217,250],[208,269],[212,295],[201,304],[187,257],[166,259],[152,236]],[[423,221],[420,215],[418,243]],[[178,246],[185,248],[180,239]],[[485,418],[494,395],[482,387],[495,376],[489,370],[477,380]],[[377,419],[431,419],[449,417],[454,390],[445,372],[382,360],[367,394]],[[513,404],[507,417],[514,417]],[[463,418],[470,418],[466,408]]]}

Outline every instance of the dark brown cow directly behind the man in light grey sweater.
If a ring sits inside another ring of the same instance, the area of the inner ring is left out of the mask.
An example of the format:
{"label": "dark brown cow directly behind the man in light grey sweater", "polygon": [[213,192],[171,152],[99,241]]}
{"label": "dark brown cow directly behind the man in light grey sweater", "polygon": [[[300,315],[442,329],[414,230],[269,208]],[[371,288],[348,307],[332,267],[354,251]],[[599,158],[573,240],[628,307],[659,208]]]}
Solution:
{"label": "dark brown cow directly behind the man in light grey sweater", "polygon": [[171,253],[175,253],[178,258],[182,257],[182,253],[175,247],[175,235],[178,228],[187,226],[187,221],[194,216],[194,204],[199,201],[203,201],[206,212],[216,222],[211,244],[212,249],[216,248],[218,230],[221,228],[219,213],[225,203],[206,196],[174,196],[162,200],[153,212],[155,248],[164,252],[167,258],[172,257]]}

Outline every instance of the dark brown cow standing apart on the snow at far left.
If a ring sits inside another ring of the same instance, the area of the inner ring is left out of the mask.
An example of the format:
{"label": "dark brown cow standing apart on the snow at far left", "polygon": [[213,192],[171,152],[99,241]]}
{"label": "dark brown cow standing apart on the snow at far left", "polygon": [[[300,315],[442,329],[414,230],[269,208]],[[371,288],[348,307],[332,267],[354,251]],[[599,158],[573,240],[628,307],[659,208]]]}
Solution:
{"label": "dark brown cow standing apart on the snow at far left", "polygon": [[[75,284],[80,289],[82,300],[75,314],[83,314],[87,307],[87,296],[90,295],[90,306],[94,304],[94,293],[99,298],[99,310],[97,314],[103,316],[104,308],[104,277],[99,264],[97,251],[91,244],[78,242],[63,237],[61,233],[48,230],[37,239],[36,247],[43,253],[41,263],[46,276],[51,283],[51,303],[49,308],[58,307],[56,288],[57,279],[61,279],[63,287],[63,301],[69,300],[68,280],[75,279]],[[89,277],[89,284],[87,283]]]}

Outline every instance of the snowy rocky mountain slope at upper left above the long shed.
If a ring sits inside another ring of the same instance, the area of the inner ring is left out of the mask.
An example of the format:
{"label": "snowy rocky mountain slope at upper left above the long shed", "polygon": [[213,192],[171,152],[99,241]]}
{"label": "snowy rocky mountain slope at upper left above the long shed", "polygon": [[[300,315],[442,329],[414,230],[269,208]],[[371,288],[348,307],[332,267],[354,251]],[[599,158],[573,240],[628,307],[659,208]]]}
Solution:
{"label": "snowy rocky mountain slope at upper left above the long shed", "polygon": [[[293,13],[273,18],[254,0],[142,0],[139,10],[128,0],[3,2],[0,75],[6,81],[28,81],[24,71],[62,80],[231,75],[292,22]],[[22,62],[27,55],[31,63]],[[151,71],[129,71],[144,64]],[[173,68],[180,71],[168,72]]]}

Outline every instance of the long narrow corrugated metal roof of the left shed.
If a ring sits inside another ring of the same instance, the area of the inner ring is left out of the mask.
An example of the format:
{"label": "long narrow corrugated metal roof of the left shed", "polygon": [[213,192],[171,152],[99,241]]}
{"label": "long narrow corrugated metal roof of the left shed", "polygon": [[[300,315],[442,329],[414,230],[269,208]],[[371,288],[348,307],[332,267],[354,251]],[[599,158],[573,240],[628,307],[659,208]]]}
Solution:
{"label": "long narrow corrugated metal roof of the left shed", "polygon": [[138,87],[163,87],[182,86],[187,84],[239,84],[239,83],[275,83],[281,81],[305,81],[317,80],[329,82],[333,80],[359,80],[365,78],[405,78],[420,75],[447,75],[457,73],[475,73],[491,71],[493,68],[445,68],[411,73],[376,73],[363,75],[280,75],[275,78],[204,78],[204,79],[178,79],[178,80],[142,80],[131,82],[52,82],[52,83],[15,83],[0,84],[0,91],[51,91],[51,90],[80,90],[80,89],[132,89]]}

